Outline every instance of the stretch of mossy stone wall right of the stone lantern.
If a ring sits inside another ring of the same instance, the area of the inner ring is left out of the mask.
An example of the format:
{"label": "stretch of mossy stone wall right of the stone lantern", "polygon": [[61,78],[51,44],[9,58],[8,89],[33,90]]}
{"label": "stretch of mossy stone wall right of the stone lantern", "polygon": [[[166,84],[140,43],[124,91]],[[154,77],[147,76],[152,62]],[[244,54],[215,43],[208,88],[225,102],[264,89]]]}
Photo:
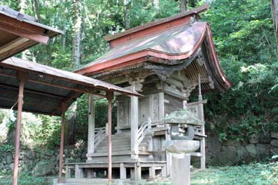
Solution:
{"label": "stretch of mossy stone wall right of the stone lantern", "polygon": [[[263,161],[278,155],[278,132],[252,134],[245,141],[220,141],[218,137],[206,139],[206,165],[232,166]],[[199,159],[192,157],[193,166],[199,166]]]}

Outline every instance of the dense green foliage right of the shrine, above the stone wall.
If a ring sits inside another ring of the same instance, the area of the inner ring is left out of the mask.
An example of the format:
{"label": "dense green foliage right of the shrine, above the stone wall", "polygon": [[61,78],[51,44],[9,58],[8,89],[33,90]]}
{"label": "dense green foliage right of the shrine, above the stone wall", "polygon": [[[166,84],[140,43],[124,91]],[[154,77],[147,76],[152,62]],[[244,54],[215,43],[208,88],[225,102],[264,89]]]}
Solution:
{"label": "dense green foliage right of the shrine, above the stone wall", "polygon": [[269,1],[212,1],[211,24],[222,69],[232,87],[208,94],[208,123],[221,139],[277,130],[277,58]]}

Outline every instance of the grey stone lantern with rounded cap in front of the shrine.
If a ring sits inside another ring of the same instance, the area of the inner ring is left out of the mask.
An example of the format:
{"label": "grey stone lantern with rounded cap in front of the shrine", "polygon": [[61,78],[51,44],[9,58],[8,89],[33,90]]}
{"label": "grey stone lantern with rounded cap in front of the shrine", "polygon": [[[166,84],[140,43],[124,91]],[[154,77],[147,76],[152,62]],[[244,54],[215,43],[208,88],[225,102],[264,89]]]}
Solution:
{"label": "grey stone lantern with rounded cap in front of the shrine", "polygon": [[195,126],[203,121],[188,109],[179,109],[165,116],[165,123],[171,125],[170,141],[164,146],[172,154],[172,185],[190,184],[190,153],[199,148],[199,141],[194,141]]}

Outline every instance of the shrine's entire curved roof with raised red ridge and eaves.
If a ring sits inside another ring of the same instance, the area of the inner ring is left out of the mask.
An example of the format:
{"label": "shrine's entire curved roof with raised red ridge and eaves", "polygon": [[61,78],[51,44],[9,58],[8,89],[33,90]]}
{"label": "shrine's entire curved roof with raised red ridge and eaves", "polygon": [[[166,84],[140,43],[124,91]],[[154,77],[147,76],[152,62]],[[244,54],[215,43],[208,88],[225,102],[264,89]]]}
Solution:
{"label": "shrine's entire curved roof with raised red ridge and eaves", "polygon": [[[111,49],[76,73],[105,80],[109,76],[152,71],[162,80],[173,71],[184,70],[191,80],[211,78],[217,91],[231,87],[224,76],[215,52],[208,23],[198,21],[201,6],[179,15],[167,17],[123,33],[105,37]],[[202,60],[203,64],[196,64]],[[162,71],[162,72],[161,72]],[[164,76],[164,77],[163,77]],[[213,89],[206,83],[202,88]]]}

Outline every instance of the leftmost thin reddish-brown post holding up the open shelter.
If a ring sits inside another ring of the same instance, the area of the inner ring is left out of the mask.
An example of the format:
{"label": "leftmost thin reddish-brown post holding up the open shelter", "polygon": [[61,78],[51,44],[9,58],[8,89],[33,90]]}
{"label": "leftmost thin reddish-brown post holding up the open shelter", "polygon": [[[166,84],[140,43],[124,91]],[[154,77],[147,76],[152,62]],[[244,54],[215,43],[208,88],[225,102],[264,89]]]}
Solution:
{"label": "leftmost thin reddish-brown post holding up the open shelter", "polygon": [[15,160],[13,162],[13,185],[17,185],[17,173],[19,163],[19,144],[20,144],[20,126],[22,124],[22,105],[25,80],[21,79],[19,84],[19,93],[17,100],[17,128],[15,135]]}

